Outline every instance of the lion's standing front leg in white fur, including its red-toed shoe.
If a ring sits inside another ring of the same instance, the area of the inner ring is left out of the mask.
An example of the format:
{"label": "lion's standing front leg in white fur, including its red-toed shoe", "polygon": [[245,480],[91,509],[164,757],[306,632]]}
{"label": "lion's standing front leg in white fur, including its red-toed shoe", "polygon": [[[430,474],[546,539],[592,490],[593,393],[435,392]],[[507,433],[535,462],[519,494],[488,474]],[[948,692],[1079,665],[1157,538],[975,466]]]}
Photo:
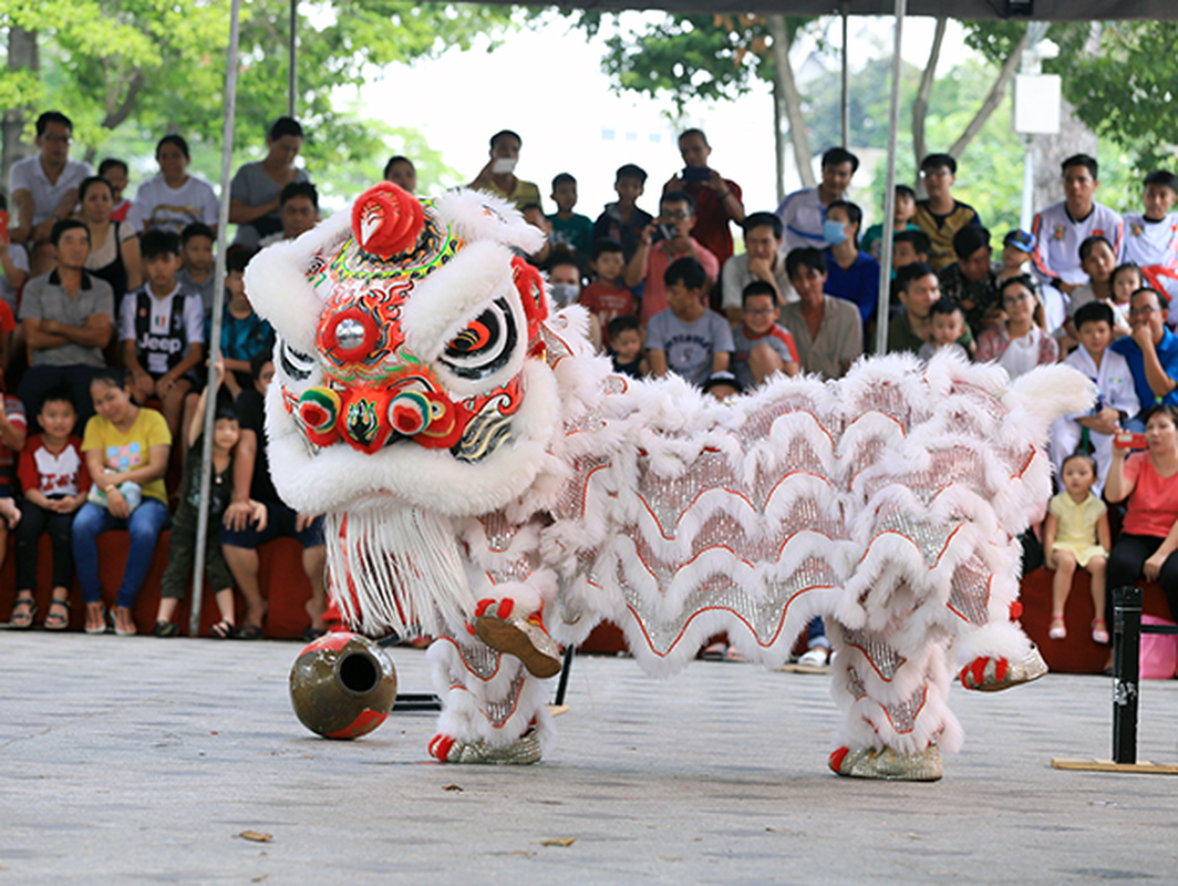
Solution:
{"label": "lion's standing front leg in white fur, including its red-toed shoe", "polygon": [[443,636],[428,653],[442,699],[430,754],[443,762],[534,763],[552,739],[549,681],[475,637]]}

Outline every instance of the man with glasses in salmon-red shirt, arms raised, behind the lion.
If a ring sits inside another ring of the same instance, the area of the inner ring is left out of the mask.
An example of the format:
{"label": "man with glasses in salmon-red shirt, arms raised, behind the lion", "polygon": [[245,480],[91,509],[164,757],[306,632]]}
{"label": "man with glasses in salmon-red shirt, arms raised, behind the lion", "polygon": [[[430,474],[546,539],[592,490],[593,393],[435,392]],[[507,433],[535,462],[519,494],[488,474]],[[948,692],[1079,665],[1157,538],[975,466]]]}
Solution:
{"label": "man with glasses in salmon-red shirt, arms raised, behind the lion", "polygon": [[670,305],[663,275],[676,258],[694,258],[708,276],[710,289],[720,278],[720,262],[702,243],[691,237],[695,227],[695,200],[683,191],[668,191],[659,201],[659,218],[647,225],[638,239],[634,258],[622,275],[628,289],[644,284],[638,320],[646,326],[650,318]]}

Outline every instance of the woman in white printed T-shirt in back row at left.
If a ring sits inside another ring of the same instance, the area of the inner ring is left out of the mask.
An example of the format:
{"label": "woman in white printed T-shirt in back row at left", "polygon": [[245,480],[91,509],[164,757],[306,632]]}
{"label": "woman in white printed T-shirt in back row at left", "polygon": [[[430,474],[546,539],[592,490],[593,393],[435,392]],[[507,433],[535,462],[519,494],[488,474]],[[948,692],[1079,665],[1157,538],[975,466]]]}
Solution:
{"label": "woman in white printed T-shirt in back row at left", "polygon": [[193,221],[217,232],[219,203],[213,186],[188,174],[188,143],[184,135],[165,135],[155,145],[159,174],[139,186],[127,221],[137,233],[151,230],[180,233]]}

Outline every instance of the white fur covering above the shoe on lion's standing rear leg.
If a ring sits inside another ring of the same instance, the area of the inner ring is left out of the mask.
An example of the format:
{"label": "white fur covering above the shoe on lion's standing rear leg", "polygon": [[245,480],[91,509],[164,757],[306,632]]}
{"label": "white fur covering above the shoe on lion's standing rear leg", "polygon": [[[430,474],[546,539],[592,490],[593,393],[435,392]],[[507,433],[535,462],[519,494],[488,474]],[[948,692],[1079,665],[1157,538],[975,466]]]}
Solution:
{"label": "white fur covering above the shoe on lion's standing rear leg", "polygon": [[954,753],[961,727],[947,705],[949,673],[941,643],[929,642],[908,657],[884,634],[826,622],[836,650],[832,693],[843,712],[835,747],[892,748],[919,754],[935,742]]}

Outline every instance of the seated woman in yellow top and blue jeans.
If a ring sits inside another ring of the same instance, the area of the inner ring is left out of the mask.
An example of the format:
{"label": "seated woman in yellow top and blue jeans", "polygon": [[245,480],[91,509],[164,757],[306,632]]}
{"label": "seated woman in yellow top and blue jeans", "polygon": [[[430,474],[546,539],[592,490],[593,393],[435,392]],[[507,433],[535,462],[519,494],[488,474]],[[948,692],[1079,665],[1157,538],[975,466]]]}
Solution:
{"label": "seated woman in yellow top and blue jeans", "polygon": [[163,415],[135,405],[126,382],[121,370],[104,369],[90,383],[97,415],[86,422],[81,449],[93,491],[73,523],[74,563],[86,603],[87,634],[106,630],[98,580],[98,536],[110,529],[126,529],[131,535],[131,551],[114,606],[114,633],[130,636],[135,633],[131,609],[147,577],[155,540],[167,524],[164,474],[172,435]]}

